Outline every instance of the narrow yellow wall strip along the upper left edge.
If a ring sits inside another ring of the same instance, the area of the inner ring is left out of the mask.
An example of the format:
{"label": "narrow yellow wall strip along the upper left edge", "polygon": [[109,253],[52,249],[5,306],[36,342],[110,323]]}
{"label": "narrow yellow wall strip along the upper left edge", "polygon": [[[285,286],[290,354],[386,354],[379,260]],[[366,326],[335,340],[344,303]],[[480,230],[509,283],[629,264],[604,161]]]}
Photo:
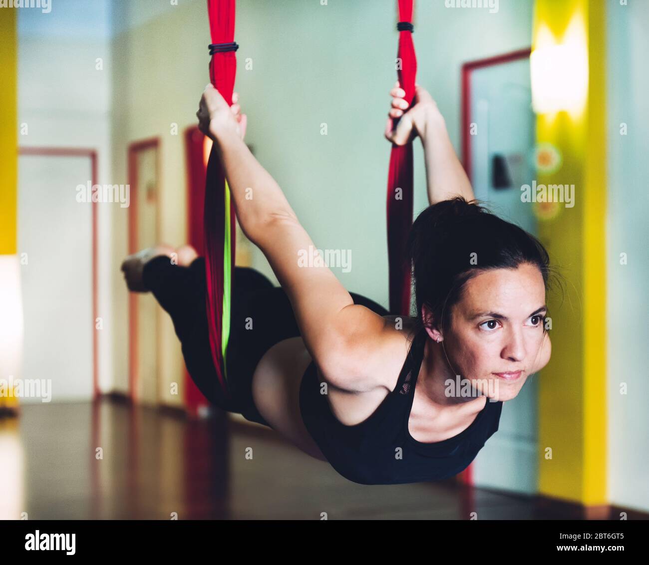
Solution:
{"label": "narrow yellow wall strip along the upper left edge", "polygon": [[0,255],[16,253],[16,187],[18,186],[18,80],[16,10],[0,10]]}

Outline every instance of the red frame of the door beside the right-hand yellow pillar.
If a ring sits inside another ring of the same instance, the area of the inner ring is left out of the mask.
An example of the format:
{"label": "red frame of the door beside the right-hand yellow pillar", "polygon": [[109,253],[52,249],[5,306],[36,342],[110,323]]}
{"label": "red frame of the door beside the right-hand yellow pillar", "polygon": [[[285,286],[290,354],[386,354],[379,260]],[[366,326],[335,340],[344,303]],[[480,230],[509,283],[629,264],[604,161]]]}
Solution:
{"label": "red frame of the door beside the right-hand yellow pillar", "polygon": [[[484,67],[492,67],[495,65],[502,65],[504,63],[509,63],[519,59],[529,58],[530,53],[532,53],[531,47],[525,47],[524,49],[517,49],[517,51],[510,51],[509,53],[504,53],[502,55],[496,55],[493,57],[487,57],[484,59],[476,59],[474,61],[466,62],[462,65],[461,70],[461,141],[462,141],[462,163],[464,170],[469,177],[469,181],[472,182],[471,178],[471,136],[469,135],[469,128],[471,126],[471,73],[475,69],[482,69]],[[489,402],[489,400],[487,400]],[[464,483],[465,485],[473,484],[473,464],[471,463],[463,472],[458,475],[458,481]],[[467,509],[474,508],[472,501],[465,501],[465,506]],[[468,510],[467,510],[468,512]]]}

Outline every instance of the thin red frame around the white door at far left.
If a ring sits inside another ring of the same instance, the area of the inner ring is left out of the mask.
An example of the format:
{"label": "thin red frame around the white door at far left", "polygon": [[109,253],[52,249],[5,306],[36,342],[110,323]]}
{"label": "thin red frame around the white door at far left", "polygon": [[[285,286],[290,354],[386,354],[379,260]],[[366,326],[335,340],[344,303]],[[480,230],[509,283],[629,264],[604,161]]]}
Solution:
{"label": "thin red frame around the white door at far left", "polygon": [[[86,147],[19,147],[19,155],[43,157],[87,157],[90,159],[90,176],[92,186],[97,184],[97,150]],[[98,309],[97,284],[97,202],[91,203],[92,210],[92,388],[93,401],[99,396],[99,335],[95,328]]]}

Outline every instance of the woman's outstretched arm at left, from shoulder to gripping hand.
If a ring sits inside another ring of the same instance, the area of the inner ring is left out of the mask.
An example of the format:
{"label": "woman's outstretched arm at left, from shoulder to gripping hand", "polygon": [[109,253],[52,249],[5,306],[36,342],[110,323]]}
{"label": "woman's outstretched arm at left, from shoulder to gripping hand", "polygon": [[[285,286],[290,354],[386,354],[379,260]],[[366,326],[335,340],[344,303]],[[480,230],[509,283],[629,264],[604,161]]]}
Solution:
{"label": "woman's outstretched arm at left, from shoulder to gripping hand", "polygon": [[[345,391],[376,387],[386,323],[351,295],[324,263],[273,177],[243,143],[238,104],[232,108],[212,86],[201,100],[199,127],[214,139],[244,234],[262,250],[291,302],[304,344],[330,384]],[[333,219],[332,219],[333,220]]]}

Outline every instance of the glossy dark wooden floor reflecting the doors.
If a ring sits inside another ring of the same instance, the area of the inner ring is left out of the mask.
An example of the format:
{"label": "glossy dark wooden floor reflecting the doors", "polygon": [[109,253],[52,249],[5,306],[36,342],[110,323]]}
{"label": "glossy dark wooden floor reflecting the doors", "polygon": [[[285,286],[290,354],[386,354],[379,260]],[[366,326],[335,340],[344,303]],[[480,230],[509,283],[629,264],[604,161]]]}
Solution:
{"label": "glossy dark wooden floor reflecting the doors", "polygon": [[265,427],[111,399],[0,419],[0,462],[4,519],[583,518],[573,505],[453,481],[356,485]]}

